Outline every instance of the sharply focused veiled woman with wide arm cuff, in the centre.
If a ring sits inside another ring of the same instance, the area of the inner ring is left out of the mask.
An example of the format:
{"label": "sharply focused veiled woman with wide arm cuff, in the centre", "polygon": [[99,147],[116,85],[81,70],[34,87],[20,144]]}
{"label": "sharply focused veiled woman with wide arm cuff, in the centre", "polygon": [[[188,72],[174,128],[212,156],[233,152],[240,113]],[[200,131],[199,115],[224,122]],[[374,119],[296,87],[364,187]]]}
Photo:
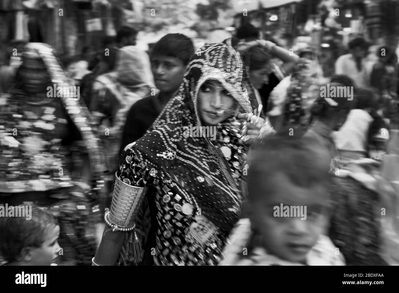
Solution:
{"label": "sharply focused veiled woman with wide arm cuff, in the centre", "polygon": [[[205,45],[191,57],[176,96],[146,135],[125,147],[93,265],[219,263],[242,212],[246,141],[273,133],[252,114],[256,98],[251,107],[245,77],[228,45]],[[243,137],[237,111],[246,120]]]}

